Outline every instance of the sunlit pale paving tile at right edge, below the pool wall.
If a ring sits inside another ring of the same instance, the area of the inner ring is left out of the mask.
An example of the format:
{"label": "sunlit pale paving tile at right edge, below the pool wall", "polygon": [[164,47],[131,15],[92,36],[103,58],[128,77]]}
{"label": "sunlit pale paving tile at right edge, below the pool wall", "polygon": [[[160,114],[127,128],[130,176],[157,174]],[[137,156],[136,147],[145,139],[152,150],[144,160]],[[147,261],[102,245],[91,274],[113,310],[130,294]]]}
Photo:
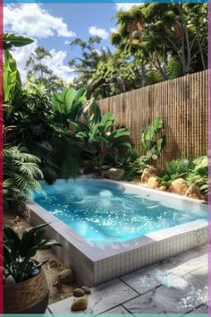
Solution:
{"label": "sunlit pale paving tile at right edge, below the pool wall", "polygon": [[190,273],[207,264],[207,245],[174,256],[166,260],[180,270]]}

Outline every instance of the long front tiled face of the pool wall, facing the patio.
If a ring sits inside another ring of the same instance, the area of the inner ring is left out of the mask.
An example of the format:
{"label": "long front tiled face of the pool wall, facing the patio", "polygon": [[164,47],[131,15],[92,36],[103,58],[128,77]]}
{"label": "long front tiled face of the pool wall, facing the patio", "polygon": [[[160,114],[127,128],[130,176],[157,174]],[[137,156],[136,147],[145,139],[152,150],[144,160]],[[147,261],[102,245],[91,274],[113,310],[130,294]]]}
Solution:
{"label": "long front tiled face of the pool wall, facing the patio", "polygon": [[133,270],[155,264],[204,244],[207,244],[207,227],[172,236],[162,241],[148,243],[126,253],[108,257],[95,263],[92,284],[97,285],[109,279],[120,277]]}

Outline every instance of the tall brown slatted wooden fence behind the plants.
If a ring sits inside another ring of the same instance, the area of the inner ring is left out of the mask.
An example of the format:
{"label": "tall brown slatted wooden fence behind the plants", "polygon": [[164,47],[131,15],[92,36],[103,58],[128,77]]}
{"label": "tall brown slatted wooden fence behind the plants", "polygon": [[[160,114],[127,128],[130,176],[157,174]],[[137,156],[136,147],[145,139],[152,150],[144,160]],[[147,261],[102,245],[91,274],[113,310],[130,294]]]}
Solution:
{"label": "tall brown slatted wooden fence behind the plants", "polygon": [[117,125],[129,129],[140,154],[140,129],[158,115],[163,118],[166,145],[160,167],[207,153],[207,104],[207,71],[99,100],[102,113],[114,112]]}

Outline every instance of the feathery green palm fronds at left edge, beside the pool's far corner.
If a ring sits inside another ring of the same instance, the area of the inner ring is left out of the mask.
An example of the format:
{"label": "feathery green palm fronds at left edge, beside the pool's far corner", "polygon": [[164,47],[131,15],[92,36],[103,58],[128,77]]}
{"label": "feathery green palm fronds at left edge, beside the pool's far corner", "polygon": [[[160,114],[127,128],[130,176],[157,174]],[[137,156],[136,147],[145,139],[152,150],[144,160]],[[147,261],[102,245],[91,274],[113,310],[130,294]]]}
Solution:
{"label": "feathery green palm fronds at left edge, beside the pool's far corner", "polygon": [[18,146],[4,145],[4,209],[21,208],[32,190],[40,191],[39,159]]}

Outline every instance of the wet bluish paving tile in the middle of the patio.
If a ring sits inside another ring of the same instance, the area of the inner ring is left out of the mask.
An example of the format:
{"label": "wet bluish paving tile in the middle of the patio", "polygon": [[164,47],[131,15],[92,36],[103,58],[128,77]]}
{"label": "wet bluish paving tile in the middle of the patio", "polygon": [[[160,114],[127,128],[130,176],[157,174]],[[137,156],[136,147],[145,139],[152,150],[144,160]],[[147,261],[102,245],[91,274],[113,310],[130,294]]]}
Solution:
{"label": "wet bluish paving tile in the middle of the patio", "polygon": [[144,294],[149,290],[160,286],[162,284],[161,278],[170,272],[181,275],[172,264],[162,262],[124,275],[121,279],[139,294]]}

